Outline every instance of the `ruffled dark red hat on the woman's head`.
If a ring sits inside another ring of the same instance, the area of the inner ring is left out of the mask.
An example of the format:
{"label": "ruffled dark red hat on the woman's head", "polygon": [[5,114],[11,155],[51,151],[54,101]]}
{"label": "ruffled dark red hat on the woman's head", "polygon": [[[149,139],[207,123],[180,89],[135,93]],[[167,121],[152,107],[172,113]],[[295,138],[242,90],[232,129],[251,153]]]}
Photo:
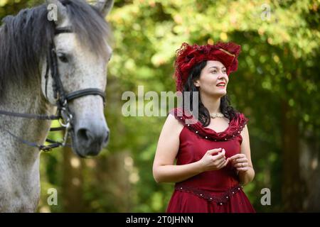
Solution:
{"label": "ruffled dark red hat on the woman's head", "polygon": [[215,45],[188,45],[182,43],[176,51],[176,90],[183,90],[183,84],[188,79],[193,66],[205,60],[216,60],[225,66],[227,74],[238,69],[238,55],[241,47],[235,43],[217,43]]}

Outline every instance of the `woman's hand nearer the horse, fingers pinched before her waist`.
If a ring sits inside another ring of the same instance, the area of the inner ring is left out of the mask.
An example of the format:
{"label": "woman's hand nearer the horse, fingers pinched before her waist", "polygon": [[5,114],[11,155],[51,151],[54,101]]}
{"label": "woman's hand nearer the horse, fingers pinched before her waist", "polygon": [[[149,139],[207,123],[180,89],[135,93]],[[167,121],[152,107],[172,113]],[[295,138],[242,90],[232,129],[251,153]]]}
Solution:
{"label": "woman's hand nearer the horse, fingers pinched before her waist", "polygon": [[[218,155],[213,155],[214,153],[218,153]],[[202,172],[220,170],[228,165],[228,160],[225,160],[225,149],[222,148],[207,150],[206,154],[203,155],[199,162],[201,163]]]}

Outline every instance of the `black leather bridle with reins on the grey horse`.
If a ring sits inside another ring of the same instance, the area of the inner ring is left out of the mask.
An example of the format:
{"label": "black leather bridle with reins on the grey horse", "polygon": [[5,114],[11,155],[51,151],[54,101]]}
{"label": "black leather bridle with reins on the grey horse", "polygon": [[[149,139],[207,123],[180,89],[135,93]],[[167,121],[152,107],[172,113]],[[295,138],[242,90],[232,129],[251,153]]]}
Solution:
{"label": "black leather bridle with reins on the grey horse", "polygon": [[[73,33],[72,28],[70,27],[63,27],[63,28],[55,28],[55,35],[58,35],[60,33]],[[58,120],[61,127],[58,128],[50,128],[50,131],[63,131],[65,130],[65,135],[63,136],[63,142],[58,142],[50,139],[46,139],[46,142],[50,143],[50,145],[38,145],[37,143],[33,143],[27,140],[23,140],[23,138],[18,137],[11,133],[10,131],[6,130],[5,128],[0,128],[7,133],[9,133],[11,136],[16,138],[21,143],[24,143],[26,145],[29,145],[34,148],[38,148],[39,150],[43,151],[50,151],[53,148],[58,147],[64,147],[67,144],[68,135],[70,133],[70,129],[73,128],[73,114],[71,113],[69,109],[68,102],[72,101],[74,99],[78,99],[82,96],[87,95],[99,95],[103,99],[103,103],[105,104],[105,92],[101,89],[95,89],[95,88],[88,88],[88,89],[82,89],[75,92],[70,92],[68,94],[65,93],[65,90],[63,89],[63,83],[60,79],[60,74],[58,71],[58,58],[55,51],[55,45],[54,43],[50,43],[50,47],[47,54],[47,67],[46,67],[46,99],[48,99],[47,96],[47,85],[48,85],[48,77],[49,77],[49,70],[51,74],[51,78],[53,80],[53,97],[55,99],[55,104],[57,106],[57,114],[56,115],[46,115],[46,114],[22,114],[22,113],[16,113],[16,112],[10,112],[10,111],[1,111],[0,115],[6,115],[6,116],[14,116],[14,117],[21,117],[21,118],[33,118],[37,120]]]}

